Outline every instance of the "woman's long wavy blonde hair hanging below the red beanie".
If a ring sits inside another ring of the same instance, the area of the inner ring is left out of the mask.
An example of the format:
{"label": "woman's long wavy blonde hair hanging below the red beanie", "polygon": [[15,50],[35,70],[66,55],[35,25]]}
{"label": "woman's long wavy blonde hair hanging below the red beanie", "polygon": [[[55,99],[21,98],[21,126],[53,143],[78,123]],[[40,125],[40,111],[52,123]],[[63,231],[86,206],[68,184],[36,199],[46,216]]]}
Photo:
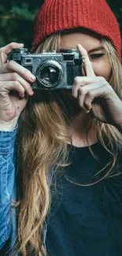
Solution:
{"label": "woman's long wavy blonde hair hanging below the red beanie", "polygon": [[[59,50],[60,33],[50,35],[41,43],[36,52]],[[110,83],[120,97],[122,72],[120,60],[112,44],[102,39],[112,67]],[[36,97],[35,97],[36,96]],[[21,114],[20,128],[17,135],[17,178],[18,182],[18,243],[17,251],[23,256],[46,254],[43,248],[43,228],[50,209],[50,169],[54,171],[65,166],[68,158],[68,142],[71,142],[69,117],[72,107],[63,92],[39,91],[28,100],[28,105]],[[93,120],[91,125],[99,122]],[[108,144],[105,144],[107,135]],[[120,132],[110,124],[102,124],[98,129],[98,140],[113,155],[109,171],[113,171],[118,154]],[[109,145],[109,146],[108,146]]]}

